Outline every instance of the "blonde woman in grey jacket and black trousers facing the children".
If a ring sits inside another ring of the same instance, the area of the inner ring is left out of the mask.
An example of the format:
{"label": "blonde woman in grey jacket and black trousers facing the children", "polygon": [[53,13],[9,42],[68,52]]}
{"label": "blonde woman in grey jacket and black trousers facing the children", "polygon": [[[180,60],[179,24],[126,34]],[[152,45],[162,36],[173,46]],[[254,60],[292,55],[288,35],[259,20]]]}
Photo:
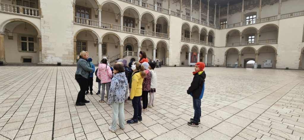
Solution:
{"label": "blonde woman in grey jacket and black trousers facing the children", "polygon": [[75,105],[85,105],[85,103],[89,103],[85,99],[85,90],[88,86],[88,78],[90,73],[93,72],[93,68],[91,68],[90,63],[88,62],[89,53],[82,51],[80,55],[77,57],[77,70],[75,73],[75,79],[80,86],[80,91],[78,92],[77,100]]}

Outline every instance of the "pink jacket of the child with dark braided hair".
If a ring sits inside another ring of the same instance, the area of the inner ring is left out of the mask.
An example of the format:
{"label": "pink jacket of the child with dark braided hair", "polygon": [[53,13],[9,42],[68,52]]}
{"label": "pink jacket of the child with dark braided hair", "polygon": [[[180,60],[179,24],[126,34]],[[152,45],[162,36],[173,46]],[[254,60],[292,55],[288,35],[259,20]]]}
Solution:
{"label": "pink jacket of the child with dark braided hair", "polygon": [[107,66],[106,64],[99,64],[97,77],[100,79],[100,83],[111,82],[111,78],[113,77],[113,74],[110,66]]}

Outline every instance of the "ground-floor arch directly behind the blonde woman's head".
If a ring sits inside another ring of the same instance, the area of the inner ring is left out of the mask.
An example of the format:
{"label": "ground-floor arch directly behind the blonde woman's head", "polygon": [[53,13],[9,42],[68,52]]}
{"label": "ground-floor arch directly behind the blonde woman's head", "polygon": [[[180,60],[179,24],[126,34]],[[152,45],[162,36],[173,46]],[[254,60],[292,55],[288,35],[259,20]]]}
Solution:
{"label": "ground-floor arch directly behind the blonde woman's head", "polygon": [[89,57],[93,59],[92,62],[98,64],[98,40],[99,37],[95,32],[90,30],[84,29],[76,33],[74,40],[74,50],[76,50],[76,52],[74,52],[74,61],[77,59],[81,51],[87,51],[89,53]]}

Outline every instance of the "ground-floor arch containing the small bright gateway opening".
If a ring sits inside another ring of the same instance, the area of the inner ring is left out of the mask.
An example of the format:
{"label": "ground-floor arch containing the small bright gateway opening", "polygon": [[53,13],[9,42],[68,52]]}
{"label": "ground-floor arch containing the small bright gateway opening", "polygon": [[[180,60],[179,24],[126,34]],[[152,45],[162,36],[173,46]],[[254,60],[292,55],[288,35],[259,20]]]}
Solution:
{"label": "ground-floor arch containing the small bright gateway opening", "polygon": [[241,58],[240,58],[240,67],[246,68],[246,64],[248,61],[253,60],[255,61],[256,51],[252,47],[245,47],[241,51]]}

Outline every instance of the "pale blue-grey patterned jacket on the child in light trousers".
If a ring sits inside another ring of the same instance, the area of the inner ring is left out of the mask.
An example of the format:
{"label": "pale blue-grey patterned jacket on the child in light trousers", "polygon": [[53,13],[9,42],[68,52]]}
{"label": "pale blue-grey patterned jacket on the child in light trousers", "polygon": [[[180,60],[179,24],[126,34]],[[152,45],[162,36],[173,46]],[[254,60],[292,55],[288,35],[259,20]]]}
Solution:
{"label": "pale blue-grey patterned jacket on the child in light trousers", "polygon": [[129,92],[128,79],[124,72],[114,75],[111,81],[110,92],[108,95],[108,105],[113,103],[122,103]]}

